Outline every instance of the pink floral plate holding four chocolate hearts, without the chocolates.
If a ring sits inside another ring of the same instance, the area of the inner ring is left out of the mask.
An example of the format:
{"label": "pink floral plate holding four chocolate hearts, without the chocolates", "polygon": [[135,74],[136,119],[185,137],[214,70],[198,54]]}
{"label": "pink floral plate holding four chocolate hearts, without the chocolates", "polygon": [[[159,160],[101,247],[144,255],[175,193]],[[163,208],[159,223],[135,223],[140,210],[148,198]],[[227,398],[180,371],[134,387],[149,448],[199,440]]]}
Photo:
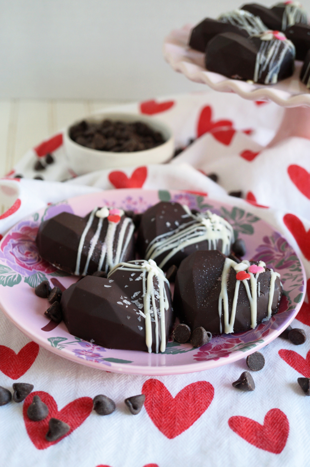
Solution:
{"label": "pink floral plate holding four chocolate hearts, without the chocolates", "polygon": [[[64,211],[85,216],[95,205],[143,212],[160,200],[177,201],[202,211],[210,209],[227,219],[236,236],[244,239],[247,258],[262,260],[281,274],[284,294],[279,312],[256,329],[216,335],[200,348],[169,341],[165,352],[160,354],[100,347],[69,334],[63,322],[48,321],[44,316],[48,302],[34,294],[34,287],[48,279],[51,284],[67,288],[76,282],[77,276],[66,276],[40,258],[35,244],[40,222]],[[290,324],[303,302],[304,284],[302,263],[282,235],[250,212],[199,193],[124,189],[70,198],[21,220],[0,242],[0,307],[7,317],[47,350],[89,367],[117,373],[191,373],[241,359],[269,344]]]}

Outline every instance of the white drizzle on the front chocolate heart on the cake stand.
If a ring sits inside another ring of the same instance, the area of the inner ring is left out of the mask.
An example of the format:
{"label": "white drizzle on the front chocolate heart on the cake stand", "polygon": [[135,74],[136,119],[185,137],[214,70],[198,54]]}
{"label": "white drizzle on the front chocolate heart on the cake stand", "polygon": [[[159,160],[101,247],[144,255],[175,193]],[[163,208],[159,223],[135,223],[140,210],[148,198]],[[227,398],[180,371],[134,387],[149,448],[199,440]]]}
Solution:
{"label": "white drizzle on the front chocolate heart on the cake stand", "polygon": [[[281,39],[277,38],[281,37]],[[256,54],[256,62],[254,69],[254,83],[262,77],[263,72],[267,70],[264,83],[276,84],[278,81],[279,71],[283,60],[288,52],[292,54],[292,60],[296,55],[296,50],[293,42],[287,39],[282,33],[273,33],[273,31],[265,31],[261,35],[255,35],[261,39],[259,51]]]}

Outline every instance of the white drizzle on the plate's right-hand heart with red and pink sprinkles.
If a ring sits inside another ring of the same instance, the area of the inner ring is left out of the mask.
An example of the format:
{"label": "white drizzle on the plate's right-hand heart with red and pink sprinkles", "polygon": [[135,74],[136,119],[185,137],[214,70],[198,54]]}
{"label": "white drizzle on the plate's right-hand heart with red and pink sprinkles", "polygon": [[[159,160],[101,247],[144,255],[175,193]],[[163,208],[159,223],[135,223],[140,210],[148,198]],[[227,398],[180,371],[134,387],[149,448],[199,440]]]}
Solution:
{"label": "white drizzle on the plate's right-hand heart with red and pink sprinkles", "polygon": [[[258,263],[258,267],[265,268],[266,264],[261,261]],[[247,271],[249,274],[249,279],[236,280],[234,298],[231,308],[230,322],[229,322],[229,304],[228,304],[228,293],[227,293],[227,283],[229,278],[229,273],[231,268],[236,271]],[[247,296],[249,298],[249,305],[251,311],[251,328],[254,329],[257,325],[257,299],[260,297],[260,283],[258,282],[258,277],[260,272],[253,274],[248,269],[250,268],[250,263],[247,260],[243,260],[241,263],[236,263],[230,258],[226,258],[222,271],[222,281],[221,281],[221,292],[218,301],[218,314],[220,318],[220,333],[222,333],[222,307],[224,308],[224,333],[229,334],[234,332],[234,324],[236,318],[236,307],[238,303],[238,293],[240,283],[243,282]],[[263,271],[261,271],[263,272]],[[269,287],[269,301],[268,301],[268,312],[267,317],[263,318],[263,321],[267,321],[271,318],[271,306],[273,302],[273,297],[275,293],[275,282],[276,278],[280,277],[280,274],[274,272],[273,269],[270,269],[270,287]],[[251,284],[251,290],[249,289],[249,282]]]}

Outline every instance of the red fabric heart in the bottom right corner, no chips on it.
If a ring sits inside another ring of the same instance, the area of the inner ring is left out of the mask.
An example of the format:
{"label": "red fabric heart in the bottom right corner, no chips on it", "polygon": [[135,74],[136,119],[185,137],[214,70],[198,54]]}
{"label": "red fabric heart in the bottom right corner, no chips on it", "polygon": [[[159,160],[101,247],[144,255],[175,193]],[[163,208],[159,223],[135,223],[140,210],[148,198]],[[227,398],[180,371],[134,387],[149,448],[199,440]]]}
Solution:
{"label": "red fabric heart in the bottom right corner, no chips on it", "polygon": [[280,409],[269,410],[263,425],[241,416],[230,417],[228,425],[248,443],[274,454],[282,453],[290,431],[289,420]]}

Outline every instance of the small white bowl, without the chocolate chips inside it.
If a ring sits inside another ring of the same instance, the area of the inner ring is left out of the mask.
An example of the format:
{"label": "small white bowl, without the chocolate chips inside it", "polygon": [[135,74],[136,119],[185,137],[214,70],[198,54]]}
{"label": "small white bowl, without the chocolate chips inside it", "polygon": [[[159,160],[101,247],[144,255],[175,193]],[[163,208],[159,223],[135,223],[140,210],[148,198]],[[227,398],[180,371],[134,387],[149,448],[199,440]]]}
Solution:
{"label": "small white bowl, without the chocolate chips inside it", "polygon": [[130,167],[147,164],[160,164],[167,162],[174,152],[174,136],[166,123],[153,117],[135,113],[95,113],[85,120],[88,122],[100,122],[102,120],[121,120],[125,122],[142,121],[155,131],[159,131],[165,142],[160,146],[144,151],[112,152],[99,151],[86,148],[74,142],[69,136],[70,127],[79,123],[78,120],[66,128],[64,132],[64,146],[70,166],[77,175],[84,175],[94,170],[114,169],[118,167]]}

